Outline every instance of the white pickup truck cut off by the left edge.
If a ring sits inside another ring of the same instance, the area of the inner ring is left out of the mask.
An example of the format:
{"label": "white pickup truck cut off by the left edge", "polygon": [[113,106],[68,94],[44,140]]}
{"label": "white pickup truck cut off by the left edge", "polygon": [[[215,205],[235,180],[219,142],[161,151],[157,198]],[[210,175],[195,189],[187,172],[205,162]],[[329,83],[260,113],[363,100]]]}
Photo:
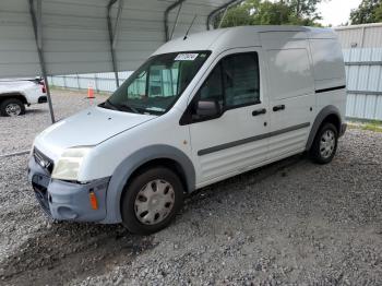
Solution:
{"label": "white pickup truck cut off by the left edge", "polygon": [[47,102],[45,83],[36,79],[0,79],[0,116],[25,114],[25,105]]}

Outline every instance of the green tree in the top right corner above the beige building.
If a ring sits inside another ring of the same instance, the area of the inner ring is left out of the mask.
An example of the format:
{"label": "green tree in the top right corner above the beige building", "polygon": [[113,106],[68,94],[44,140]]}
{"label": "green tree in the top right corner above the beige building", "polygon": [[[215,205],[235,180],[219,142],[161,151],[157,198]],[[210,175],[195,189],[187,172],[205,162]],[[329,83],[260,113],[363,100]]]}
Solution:
{"label": "green tree in the top right corner above the beige building", "polygon": [[382,0],[362,0],[351,11],[350,21],[353,25],[382,22]]}

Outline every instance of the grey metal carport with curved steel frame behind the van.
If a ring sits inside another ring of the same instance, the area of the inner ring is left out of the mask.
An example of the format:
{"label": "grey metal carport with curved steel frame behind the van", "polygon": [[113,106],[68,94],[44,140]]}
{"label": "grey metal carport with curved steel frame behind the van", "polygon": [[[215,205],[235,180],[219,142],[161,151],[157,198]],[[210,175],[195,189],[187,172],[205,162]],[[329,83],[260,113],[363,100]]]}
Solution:
{"label": "grey metal carport with curved steel frame behind the van", "polygon": [[210,29],[214,16],[237,2],[2,0],[0,78],[40,74],[48,83],[48,74],[134,70],[193,20],[191,33]]}

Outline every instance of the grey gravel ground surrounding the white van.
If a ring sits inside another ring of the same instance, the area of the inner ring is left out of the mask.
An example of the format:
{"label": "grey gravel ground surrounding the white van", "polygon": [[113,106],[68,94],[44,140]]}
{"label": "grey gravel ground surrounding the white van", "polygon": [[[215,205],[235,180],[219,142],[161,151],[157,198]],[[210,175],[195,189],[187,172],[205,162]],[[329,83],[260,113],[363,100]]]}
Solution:
{"label": "grey gravel ground surrounding the white van", "polygon": [[[87,105],[59,93],[59,118]],[[49,124],[39,108],[0,119],[2,153]],[[349,130],[325,166],[294,156],[204,188],[148,237],[50,222],[26,160],[0,158],[1,285],[382,285],[382,133]]]}

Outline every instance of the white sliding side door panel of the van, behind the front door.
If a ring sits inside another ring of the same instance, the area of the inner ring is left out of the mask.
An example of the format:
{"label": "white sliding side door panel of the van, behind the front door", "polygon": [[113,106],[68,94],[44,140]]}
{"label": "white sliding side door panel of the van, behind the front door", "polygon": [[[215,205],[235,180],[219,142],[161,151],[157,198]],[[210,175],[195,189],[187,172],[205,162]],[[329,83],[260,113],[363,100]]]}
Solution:
{"label": "white sliding side door panel of the van, behind the front door", "polygon": [[262,33],[267,58],[270,158],[305,150],[315,116],[312,62],[306,33]]}

